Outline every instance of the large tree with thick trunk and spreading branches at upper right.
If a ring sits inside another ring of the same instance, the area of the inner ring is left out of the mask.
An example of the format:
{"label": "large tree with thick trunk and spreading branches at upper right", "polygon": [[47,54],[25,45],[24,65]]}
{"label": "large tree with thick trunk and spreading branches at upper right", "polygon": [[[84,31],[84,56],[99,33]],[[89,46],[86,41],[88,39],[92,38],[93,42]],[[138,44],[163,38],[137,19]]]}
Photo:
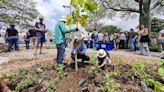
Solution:
{"label": "large tree with thick trunk and spreading branches at upper right", "polygon": [[[164,0],[98,0],[106,9],[119,15],[139,14],[140,24],[151,31],[152,15],[164,14]],[[118,12],[119,11],[119,12]]]}

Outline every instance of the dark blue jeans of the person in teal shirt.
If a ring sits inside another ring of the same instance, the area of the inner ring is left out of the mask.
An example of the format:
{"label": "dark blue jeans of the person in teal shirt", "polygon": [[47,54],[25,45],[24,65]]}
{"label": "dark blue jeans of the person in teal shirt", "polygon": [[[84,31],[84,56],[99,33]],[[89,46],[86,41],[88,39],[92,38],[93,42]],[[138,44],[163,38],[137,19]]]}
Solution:
{"label": "dark blue jeans of the person in teal shirt", "polygon": [[57,47],[57,64],[62,64],[65,53],[65,43],[56,44]]}

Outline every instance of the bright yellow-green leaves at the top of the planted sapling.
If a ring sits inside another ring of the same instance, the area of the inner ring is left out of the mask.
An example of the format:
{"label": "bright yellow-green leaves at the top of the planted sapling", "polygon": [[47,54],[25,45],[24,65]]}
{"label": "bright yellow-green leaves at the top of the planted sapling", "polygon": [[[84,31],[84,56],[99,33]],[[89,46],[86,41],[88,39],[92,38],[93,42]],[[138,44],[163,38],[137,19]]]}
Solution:
{"label": "bright yellow-green leaves at the top of the planted sapling", "polygon": [[97,2],[91,0],[71,0],[71,5],[74,7],[74,10],[71,15],[67,15],[67,24],[77,24],[80,23],[81,26],[86,26],[86,20],[88,15],[85,13],[93,13],[97,10]]}

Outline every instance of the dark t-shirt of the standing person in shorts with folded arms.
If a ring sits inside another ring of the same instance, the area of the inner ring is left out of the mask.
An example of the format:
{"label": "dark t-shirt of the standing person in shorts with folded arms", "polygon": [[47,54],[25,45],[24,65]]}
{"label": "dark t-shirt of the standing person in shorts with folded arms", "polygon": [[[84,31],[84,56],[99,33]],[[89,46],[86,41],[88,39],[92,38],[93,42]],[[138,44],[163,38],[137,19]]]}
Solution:
{"label": "dark t-shirt of the standing person in shorts with folded arms", "polygon": [[[35,24],[35,27],[36,28],[39,28],[39,29],[46,29],[46,25],[45,24],[43,24],[43,23],[40,23],[40,22],[37,22],[36,24]],[[38,37],[44,37],[45,36],[45,33],[44,32],[41,32],[41,31],[36,31],[36,36]]]}

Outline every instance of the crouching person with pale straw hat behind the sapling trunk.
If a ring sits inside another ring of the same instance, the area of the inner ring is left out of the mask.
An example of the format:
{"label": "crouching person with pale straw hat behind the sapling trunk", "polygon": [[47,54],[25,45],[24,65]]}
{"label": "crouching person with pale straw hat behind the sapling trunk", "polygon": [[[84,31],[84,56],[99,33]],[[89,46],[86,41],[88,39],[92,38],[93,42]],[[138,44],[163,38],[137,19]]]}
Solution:
{"label": "crouching person with pale straw hat behind the sapling trunk", "polygon": [[75,52],[77,52],[77,59],[82,59],[82,62],[89,61],[89,56],[86,55],[87,45],[84,43],[84,34],[82,32],[76,32],[73,34],[73,49],[71,52],[71,58],[75,61]]}

